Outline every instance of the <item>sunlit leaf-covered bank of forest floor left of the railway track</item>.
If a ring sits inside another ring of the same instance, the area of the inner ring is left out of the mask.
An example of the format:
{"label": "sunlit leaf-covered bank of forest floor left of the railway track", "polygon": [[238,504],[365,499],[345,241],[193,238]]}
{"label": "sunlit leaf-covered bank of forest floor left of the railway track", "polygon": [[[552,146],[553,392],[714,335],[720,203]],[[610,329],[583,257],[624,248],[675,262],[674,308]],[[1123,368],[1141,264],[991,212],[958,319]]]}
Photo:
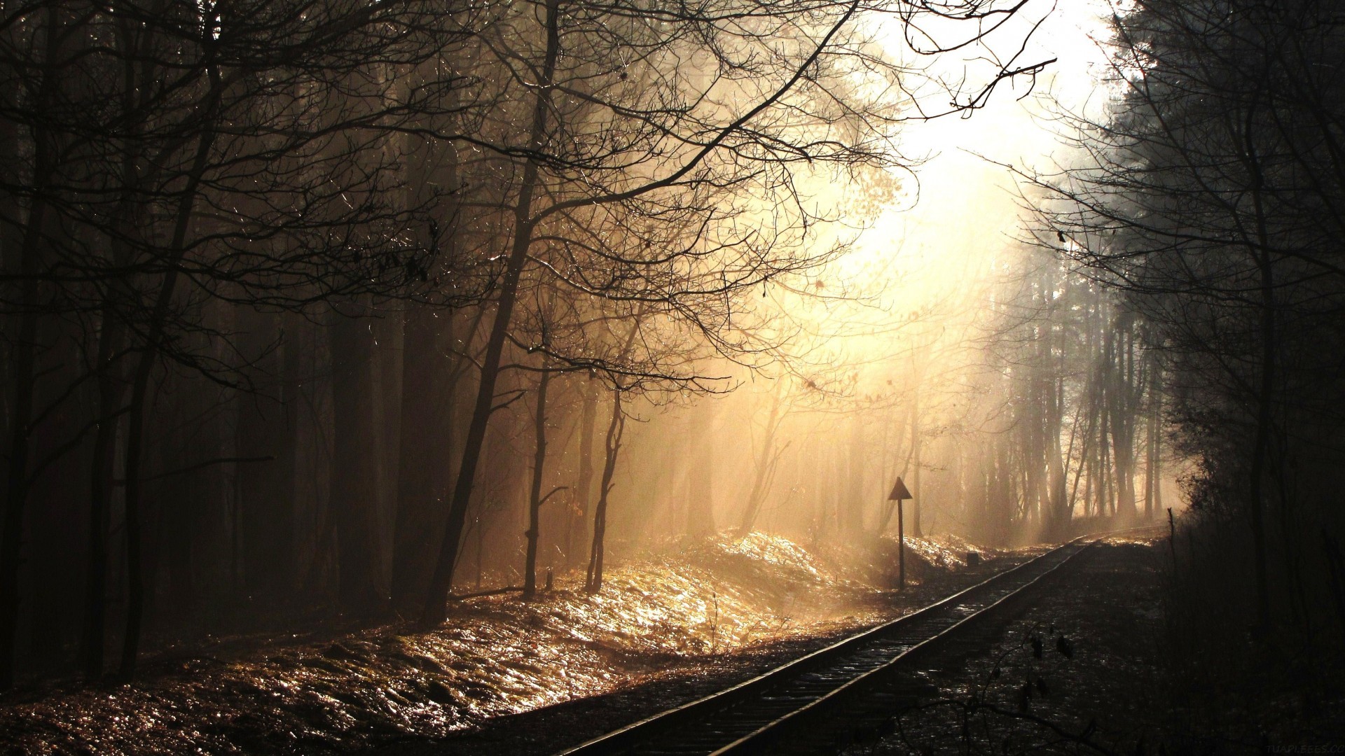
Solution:
{"label": "sunlit leaf-covered bank of forest floor left of the railway track", "polygon": [[810,553],[760,534],[631,560],[597,596],[463,601],[432,632],[219,648],[130,685],[0,700],[7,753],[546,753],[725,687],[1021,562],[915,541]]}

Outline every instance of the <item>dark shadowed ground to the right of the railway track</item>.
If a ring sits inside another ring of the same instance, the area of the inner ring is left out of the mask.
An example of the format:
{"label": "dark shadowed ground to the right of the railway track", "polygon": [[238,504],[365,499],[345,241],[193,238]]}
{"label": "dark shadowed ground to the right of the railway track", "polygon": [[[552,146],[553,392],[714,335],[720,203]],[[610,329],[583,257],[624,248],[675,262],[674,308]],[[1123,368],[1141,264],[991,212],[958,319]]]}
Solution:
{"label": "dark shadowed ground to the right of the railway track", "polygon": [[1167,539],[1110,539],[972,654],[917,673],[896,732],[851,756],[1345,753],[1341,659],[1310,674],[1275,642],[1236,658],[1171,642]]}

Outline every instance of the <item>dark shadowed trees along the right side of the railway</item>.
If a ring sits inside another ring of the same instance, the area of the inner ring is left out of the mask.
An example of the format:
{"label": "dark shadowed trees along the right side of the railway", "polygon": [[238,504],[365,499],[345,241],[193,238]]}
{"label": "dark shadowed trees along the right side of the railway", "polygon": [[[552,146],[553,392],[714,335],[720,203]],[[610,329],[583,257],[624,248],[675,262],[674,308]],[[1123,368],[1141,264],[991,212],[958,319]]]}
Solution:
{"label": "dark shadowed trees along the right side of the railway", "polygon": [[1197,515],[1192,613],[1307,650],[1345,620],[1319,611],[1345,607],[1333,13],[1139,3],[1114,20],[1116,106],[1065,114],[1079,163],[1024,175],[1036,239],[1142,323]]}

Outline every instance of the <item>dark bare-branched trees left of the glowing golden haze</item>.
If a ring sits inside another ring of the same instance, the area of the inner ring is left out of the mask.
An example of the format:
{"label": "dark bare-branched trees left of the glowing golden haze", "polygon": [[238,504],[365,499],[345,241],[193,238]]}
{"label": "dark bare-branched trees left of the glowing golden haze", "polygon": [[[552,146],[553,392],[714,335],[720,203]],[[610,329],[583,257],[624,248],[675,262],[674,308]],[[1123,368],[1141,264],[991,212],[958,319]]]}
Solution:
{"label": "dark bare-branched trees left of the glowing golden haze", "polygon": [[597,591],[631,408],[771,359],[843,248],[800,184],[900,161],[869,11],[7,5],[0,685]]}

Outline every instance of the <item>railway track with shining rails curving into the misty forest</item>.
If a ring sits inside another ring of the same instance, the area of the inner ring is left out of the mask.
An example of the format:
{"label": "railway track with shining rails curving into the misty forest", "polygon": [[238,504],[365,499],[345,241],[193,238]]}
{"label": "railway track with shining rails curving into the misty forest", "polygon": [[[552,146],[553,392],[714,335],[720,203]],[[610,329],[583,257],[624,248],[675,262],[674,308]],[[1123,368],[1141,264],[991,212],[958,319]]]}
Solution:
{"label": "railway track with shining rails curving into the misty forest", "polygon": [[1106,535],[1112,534],[1069,541],[923,609],[558,756],[816,752],[823,743],[882,732],[902,698],[929,689],[917,674],[923,658],[983,643],[975,628]]}

